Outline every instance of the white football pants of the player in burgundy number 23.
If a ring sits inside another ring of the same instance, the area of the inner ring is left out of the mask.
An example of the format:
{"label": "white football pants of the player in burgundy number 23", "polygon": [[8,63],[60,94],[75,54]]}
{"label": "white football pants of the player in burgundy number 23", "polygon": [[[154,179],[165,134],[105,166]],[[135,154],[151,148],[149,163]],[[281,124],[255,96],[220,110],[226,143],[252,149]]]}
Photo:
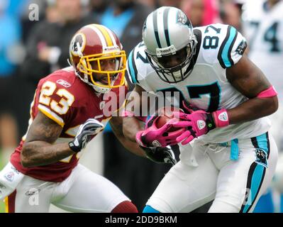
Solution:
{"label": "white football pants of the player in burgundy number 23", "polygon": [[71,212],[102,213],[111,212],[122,201],[130,199],[108,179],[79,164],[60,183],[25,175],[16,191],[6,197],[6,211],[43,213],[53,204]]}

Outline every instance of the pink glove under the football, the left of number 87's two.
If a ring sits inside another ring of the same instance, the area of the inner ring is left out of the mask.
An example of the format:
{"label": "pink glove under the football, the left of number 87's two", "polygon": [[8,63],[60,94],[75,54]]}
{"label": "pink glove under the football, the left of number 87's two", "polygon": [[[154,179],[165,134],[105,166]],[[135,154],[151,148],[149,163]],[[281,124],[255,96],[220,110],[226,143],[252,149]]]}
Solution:
{"label": "pink glove under the football, the left of number 87's two", "polygon": [[172,127],[172,123],[177,121],[176,118],[172,118],[170,121],[165,123],[161,128],[157,128],[155,122],[158,116],[152,116],[146,123],[145,130],[139,131],[135,135],[137,143],[143,147],[162,147],[165,148],[167,145],[177,144],[176,138],[182,135],[187,129],[179,128],[177,131],[168,132]]}

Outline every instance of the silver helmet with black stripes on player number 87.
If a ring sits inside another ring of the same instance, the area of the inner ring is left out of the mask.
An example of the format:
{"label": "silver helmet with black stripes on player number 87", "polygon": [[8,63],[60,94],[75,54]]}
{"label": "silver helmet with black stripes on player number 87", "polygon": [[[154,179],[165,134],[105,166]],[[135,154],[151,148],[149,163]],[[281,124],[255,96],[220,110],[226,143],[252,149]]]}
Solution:
{"label": "silver helmet with black stripes on player number 87", "polygon": [[[180,9],[162,6],[150,13],[143,25],[143,42],[150,65],[163,81],[177,83],[192,72],[197,40]],[[172,59],[176,64],[169,65]]]}

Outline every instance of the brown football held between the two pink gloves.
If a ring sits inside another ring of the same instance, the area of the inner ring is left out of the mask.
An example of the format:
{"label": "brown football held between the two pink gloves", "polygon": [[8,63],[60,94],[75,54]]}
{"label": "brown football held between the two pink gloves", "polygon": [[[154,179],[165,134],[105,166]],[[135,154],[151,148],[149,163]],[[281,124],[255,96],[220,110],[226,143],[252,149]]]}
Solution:
{"label": "brown football held between the two pink gloves", "polygon": [[[174,106],[165,106],[158,109],[157,114],[160,117],[155,121],[155,126],[157,128],[161,128],[165,125],[165,123],[174,118],[173,111],[179,111],[179,109],[175,108]],[[177,131],[178,129],[179,128],[171,127],[168,132]]]}

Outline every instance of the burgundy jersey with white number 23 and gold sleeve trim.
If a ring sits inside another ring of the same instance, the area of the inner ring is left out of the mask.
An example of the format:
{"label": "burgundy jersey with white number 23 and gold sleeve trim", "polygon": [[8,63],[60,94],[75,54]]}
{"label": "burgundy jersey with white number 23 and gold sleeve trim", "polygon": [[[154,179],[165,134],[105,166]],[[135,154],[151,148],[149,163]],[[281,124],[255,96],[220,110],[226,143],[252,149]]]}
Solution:
{"label": "burgundy jersey with white number 23 and gold sleeve trim", "polygon": [[[118,83],[118,79],[116,83]],[[106,94],[96,95],[94,89],[74,74],[72,67],[53,72],[40,80],[30,109],[29,125],[41,111],[62,126],[62,133],[55,143],[70,142],[79,126],[88,118],[95,118],[106,126],[111,116],[116,116],[125,101],[126,86],[111,89]],[[101,131],[101,130],[100,130]],[[97,131],[99,133],[99,131]],[[24,175],[48,182],[62,182],[77,165],[79,154],[66,157],[59,162],[39,167],[23,167],[21,150],[26,135],[11,155],[11,163]]]}

